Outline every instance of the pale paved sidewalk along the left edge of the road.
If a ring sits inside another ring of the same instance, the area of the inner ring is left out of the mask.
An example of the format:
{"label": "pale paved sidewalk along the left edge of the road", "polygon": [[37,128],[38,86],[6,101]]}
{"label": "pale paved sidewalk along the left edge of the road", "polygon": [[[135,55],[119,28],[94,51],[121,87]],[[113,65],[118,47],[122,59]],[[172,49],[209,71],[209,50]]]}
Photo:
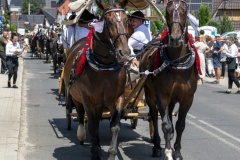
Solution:
{"label": "pale paved sidewalk along the left edge of the road", "polygon": [[8,88],[8,75],[0,74],[0,160],[17,160],[22,105],[22,73],[23,59],[19,58],[17,89]]}

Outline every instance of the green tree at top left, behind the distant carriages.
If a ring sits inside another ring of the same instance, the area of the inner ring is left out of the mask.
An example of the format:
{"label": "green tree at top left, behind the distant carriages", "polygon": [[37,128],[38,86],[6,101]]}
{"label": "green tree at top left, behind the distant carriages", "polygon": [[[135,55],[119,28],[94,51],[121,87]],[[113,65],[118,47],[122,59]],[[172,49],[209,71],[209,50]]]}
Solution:
{"label": "green tree at top left, behind the distant carriages", "polygon": [[44,4],[43,1],[41,0],[24,0],[22,3],[22,10],[21,10],[22,14],[28,14],[29,3],[31,4],[30,14],[35,13],[39,9],[42,9]]}

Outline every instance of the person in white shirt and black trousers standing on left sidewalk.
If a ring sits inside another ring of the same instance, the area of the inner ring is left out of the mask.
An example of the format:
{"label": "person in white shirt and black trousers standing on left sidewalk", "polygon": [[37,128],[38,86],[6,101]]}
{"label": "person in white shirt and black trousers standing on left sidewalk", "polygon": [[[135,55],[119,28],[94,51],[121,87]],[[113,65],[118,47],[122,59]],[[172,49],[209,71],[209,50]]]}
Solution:
{"label": "person in white shirt and black trousers standing on left sidewalk", "polygon": [[18,43],[18,36],[15,33],[11,34],[11,42],[6,45],[7,67],[8,67],[8,87],[11,87],[11,78],[13,76],[12,88],[16,86],[17,71],[18,71],[18,57],[21,56],[23,49]]}

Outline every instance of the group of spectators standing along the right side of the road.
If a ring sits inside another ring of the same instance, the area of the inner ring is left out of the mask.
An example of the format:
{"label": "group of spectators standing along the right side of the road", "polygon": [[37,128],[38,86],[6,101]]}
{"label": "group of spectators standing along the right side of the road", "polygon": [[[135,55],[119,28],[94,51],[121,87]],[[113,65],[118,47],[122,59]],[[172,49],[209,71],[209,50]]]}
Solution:
{"label": "group of spectators standing along the right side of the road", "polygon": [[236,84],[240,94],[240,84],[235,75],[235,69],[238,65],[238,39],[231,37],[228,40],[221,38],[219,34],[207,38],[204,31],[195,37],[195,47],[200,57],[200,67],[202,75],[199,75],[198,84],[203,83],[205,76],[215,77],[212,84],[219,84],[220,79],[225,78],[225,70],[228,69],[228,89],[226,93],[231,93],[233,83]]}

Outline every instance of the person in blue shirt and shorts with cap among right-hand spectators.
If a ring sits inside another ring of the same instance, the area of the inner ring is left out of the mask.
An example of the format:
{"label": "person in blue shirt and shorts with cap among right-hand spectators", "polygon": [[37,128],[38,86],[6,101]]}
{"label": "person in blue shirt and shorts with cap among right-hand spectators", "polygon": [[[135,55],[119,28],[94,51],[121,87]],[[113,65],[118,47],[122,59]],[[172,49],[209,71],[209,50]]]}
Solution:
{"label": "person in blue shirt and shorts with cap among right-hand spectators", "polygon": [[220,34],[216,34],[215,37],[216,37],[216,43],[213,45],[212,58],[213,58],[213,67],[216,74],[216,80],[212,83],[219,84],[220,75],[221,75],[221,69],[220,69],[221,52],[219,52],[219,50],[222,47],[222,42],[220,41]]}

